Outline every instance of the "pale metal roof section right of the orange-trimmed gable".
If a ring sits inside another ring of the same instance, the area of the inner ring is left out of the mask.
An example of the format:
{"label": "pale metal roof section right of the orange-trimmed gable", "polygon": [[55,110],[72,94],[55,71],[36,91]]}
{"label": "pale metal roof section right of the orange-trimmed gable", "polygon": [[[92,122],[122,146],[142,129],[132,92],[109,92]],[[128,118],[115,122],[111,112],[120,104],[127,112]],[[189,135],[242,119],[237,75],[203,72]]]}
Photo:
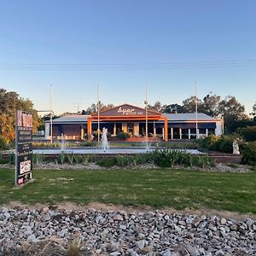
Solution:
{"label": "pale metal roof section right of the orange-trimmed gable", "polygon": [[[168,121],[195,121],[196,119],[195,113],[164,113],[163,115],[167,116]],[[197,119],[201,121],[216,120],[206,113],[197,113]]]}

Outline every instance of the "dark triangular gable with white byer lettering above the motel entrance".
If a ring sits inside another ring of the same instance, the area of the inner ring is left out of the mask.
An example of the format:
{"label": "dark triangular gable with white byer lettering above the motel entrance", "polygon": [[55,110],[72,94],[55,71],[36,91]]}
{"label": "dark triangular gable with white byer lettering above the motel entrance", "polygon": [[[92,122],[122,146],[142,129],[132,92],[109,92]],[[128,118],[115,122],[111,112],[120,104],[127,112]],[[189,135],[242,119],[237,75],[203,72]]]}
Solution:
{"label": "dark triangular gable with white byer lettering above the motel entrance", "polygon": [[[124,104],[115,108],[111,108],[108,110],[103,110],[100,113],[101,116],[111,116],[111,117],[137,117],[137,116],[145,116],[146,110],[144,108],[138,108],[129,104]],[[97,116],[97,113],[92,114],[92,116]],[[148,110],[148,116],[160,116],[160,113]]]}

